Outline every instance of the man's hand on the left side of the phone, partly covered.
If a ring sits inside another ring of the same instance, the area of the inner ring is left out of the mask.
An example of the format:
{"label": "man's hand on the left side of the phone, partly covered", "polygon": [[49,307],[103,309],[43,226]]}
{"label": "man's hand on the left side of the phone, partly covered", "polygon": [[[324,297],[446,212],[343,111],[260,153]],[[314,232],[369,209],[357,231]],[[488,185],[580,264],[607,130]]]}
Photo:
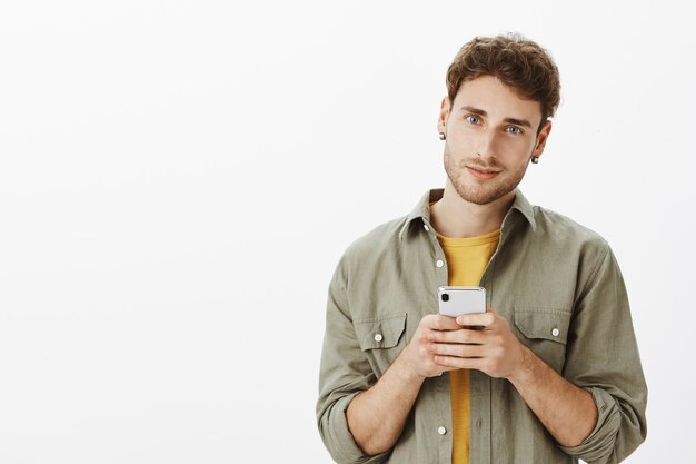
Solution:
{"label": "man's hand on the left side of the phone, partly covered", "polygon": [[419,377],[435,377],[446,371],[457,367],[447,367],[435,362],[435,355],[428,347],[436,334],[447,334],[447,330],[459,330],[461,327],[453,317],[439,314],[429,314],[420,319],[411,340],[406,345],[400,357],[406,366]]}

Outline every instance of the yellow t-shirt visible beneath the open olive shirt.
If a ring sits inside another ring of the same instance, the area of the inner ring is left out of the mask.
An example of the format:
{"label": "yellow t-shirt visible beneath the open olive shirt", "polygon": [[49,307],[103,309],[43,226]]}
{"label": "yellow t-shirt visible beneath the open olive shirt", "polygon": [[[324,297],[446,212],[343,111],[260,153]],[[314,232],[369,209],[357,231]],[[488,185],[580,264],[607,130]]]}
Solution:
{"label": "yellow t-shirt visible beneath the open olive shirt", "polygon": [[[438,234],[449,272],[448,285],[477,286],[490,257],[498,247],[500,230],[468,238],[449,238]],[[469,463],[469,371],[449,373],[451,392],[453,464]]]}

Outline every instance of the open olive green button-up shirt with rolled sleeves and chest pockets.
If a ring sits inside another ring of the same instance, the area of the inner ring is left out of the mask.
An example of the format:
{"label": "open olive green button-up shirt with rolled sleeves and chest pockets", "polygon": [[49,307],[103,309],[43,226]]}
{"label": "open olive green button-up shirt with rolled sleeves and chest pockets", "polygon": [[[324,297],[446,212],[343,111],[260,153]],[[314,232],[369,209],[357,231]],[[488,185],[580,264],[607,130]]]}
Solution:
{"label": "open olive green button-up shirt with rolled sleeves and chest pockets", "polygon": [[[321,354],[317,421],[338,463],[451,462],[447,376],[427,378],[395,446],[365,455],[346,408],[389,368],[420,319],[437,313],[447,263],[430,226],[427,192],[406,217],[356,240],[331,283]],[[647,386],[626,289],[607,243],[573,220],[531,206],[517,191],[481,277],[487,304],[536,355],[588,391],[599,412],[578,446],[558,445],[504,378],[470,373],[471,464],[616,463],[646,436]]]}

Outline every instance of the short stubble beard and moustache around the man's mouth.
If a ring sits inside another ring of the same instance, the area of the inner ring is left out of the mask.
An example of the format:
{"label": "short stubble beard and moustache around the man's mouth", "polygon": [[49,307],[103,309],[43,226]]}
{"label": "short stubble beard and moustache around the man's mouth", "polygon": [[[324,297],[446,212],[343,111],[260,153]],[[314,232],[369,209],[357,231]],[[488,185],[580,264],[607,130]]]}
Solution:
{"label": "short stubble beard and moustache around the man's mouth", "polygon": [[[464,177],[468,176],[467,164],[484,169],[500,170],[500,172],[493,179],[471,180],[467,185],[464,180]],[[445,148],[445,171],[447,172],[449,181],[463,200],[475,205],[488,205],[515,190],[525,177],[527,166],[528,165],[525,164],[521,169],[509,172],[508,175],[507,169],[498,164],[495,158],[488,164],[483,164],[475,158],[461,159],[457,162],[447,147]]]}

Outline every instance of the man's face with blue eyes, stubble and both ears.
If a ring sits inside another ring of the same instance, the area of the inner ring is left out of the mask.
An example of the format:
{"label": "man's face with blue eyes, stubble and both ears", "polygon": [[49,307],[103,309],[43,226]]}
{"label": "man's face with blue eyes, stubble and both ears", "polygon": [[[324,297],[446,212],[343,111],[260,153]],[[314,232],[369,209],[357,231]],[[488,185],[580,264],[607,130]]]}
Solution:
{"label": "man's face with blue eyes, stubble and both ears", "polygon": [[521,99],[491,76],[466,81],[455,101],[443,101],[438,129],[445,132],[445,170],[459,196],[487,205],[513,191],[550,132],[539,135],[541,107]]}

